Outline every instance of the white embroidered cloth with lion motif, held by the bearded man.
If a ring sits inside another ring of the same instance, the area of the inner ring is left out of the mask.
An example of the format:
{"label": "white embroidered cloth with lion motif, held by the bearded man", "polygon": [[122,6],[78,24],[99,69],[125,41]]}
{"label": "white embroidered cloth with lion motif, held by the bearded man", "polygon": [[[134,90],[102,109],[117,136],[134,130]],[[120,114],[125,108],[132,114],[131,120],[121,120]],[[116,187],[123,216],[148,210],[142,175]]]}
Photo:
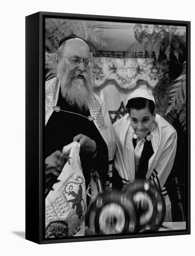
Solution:
{"label": "white embroidered cloth with lion motif, held by the bearded man", "polygon": [[63,148],[67,162],[45,200],[46,238],[84,235],[83,223],[87,210],[85,178],[79,157],[80,144],[72,142]]}

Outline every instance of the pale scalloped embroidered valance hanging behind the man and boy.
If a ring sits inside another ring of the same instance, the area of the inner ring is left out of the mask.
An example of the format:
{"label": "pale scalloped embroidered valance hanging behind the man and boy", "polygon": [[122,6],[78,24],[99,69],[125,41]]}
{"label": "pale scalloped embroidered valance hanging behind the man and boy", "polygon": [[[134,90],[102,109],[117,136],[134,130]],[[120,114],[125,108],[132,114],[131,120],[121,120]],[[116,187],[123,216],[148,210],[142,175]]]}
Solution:
{"label": "pale scalloped embroidered valance hanging behind the man and boy", "polygon": [[96,88],[105,85],[108,81],[115,81],[120,88],[131,89],[138,80],[145,80],[154,88],[167,70],[167,61],[159,63],[154,58],[94,57],[92,65]]}

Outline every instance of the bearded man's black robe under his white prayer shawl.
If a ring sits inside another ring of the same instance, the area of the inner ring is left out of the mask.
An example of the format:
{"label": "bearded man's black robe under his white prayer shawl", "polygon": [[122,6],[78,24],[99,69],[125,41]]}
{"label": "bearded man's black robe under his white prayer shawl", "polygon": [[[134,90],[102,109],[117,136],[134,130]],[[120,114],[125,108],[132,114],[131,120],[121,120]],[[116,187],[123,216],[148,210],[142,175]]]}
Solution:
{"label": "bearded man's black robe under his white prayer shawl", "polygon": [[[56,106],[62,110],[89,116],[89,110],[81,111],[77,106],[70,106],[59,92],[59,98]],[[103,140],[99,130],[93,121],[80,115],[67,112],[53,112],[50,116],[45,128],[45,158],[56,150],[62,150],[64,146],[73,142],[74,136],[83,134],[94,140],[97,146],[97,154],[95,158],[90,155],[80,154],[83,175],[86,181],[86,188],[90,182],[90,169],[94,168],[98,171],[102,185],[108,173],[108,147]]]}

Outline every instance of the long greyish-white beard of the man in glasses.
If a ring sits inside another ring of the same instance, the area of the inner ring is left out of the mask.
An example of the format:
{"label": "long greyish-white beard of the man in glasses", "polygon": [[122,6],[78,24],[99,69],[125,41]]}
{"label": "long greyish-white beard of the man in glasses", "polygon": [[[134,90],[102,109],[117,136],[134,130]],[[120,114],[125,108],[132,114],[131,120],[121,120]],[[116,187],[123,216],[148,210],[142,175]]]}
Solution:
{"label": "long greyish-white beard of the man in glasses", "polygon": [[[62,73],[62,74],[61,74]],[[61,71],[61,94],[64,99],[72,106],[77,105],[81,110],[88,110],[92,93],[91,74],[83,72],[83,79],[76,76],[80,74],[78,70],[74,70],[67,74]]]}

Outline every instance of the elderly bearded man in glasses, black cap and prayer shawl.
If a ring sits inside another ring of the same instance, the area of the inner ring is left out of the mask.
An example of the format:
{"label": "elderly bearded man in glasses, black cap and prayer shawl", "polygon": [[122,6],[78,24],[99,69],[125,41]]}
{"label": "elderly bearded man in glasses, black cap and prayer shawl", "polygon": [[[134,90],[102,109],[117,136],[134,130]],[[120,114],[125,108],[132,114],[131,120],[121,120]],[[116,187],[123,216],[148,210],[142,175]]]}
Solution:
{"label": "elderly bearded man in glasses, black cap and prayer shawl", "polygon": [[46,82],[46,162],[49,163],[51,154],[59,158],[65,145],[78,141],[86,189],[92,169],[97,171],[101,185],[105,186],[108,159],[113,160],[115,154],[108,111],[92,91],[91,62],[86,41],[71,34],[60,42],[58,76]]}

